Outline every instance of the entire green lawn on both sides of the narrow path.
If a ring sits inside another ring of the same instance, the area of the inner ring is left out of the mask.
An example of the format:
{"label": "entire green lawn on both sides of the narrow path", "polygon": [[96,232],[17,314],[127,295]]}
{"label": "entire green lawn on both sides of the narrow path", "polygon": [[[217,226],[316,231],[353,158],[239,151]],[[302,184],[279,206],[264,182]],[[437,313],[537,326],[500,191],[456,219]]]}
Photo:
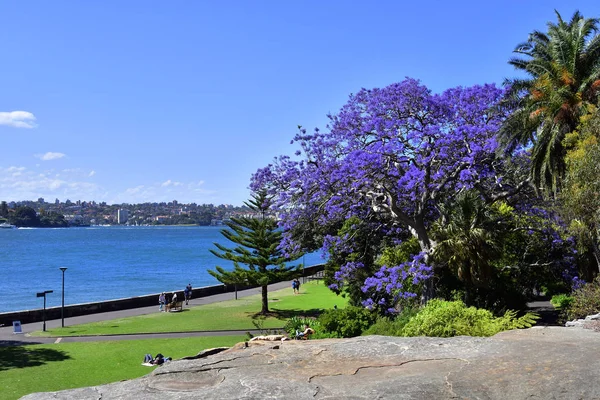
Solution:
{"label": "entire green lawn on both sides of the narrow path", "polygon": [[[186,309],[180,313],[155,313],[52,329],[52,336],[114,335],[128,333],[185,332],[278,328],[292,316],[316,316],[346,299],[336,296],[322,282],[269,293],[271,314],[260,317],[260,294]],[[258,322],[257,322],[258,321]],[[253,323],[254,322],[254,323]],[[41,335],[42,332],[37,332]],[[141,365],[144,355],[162,353],[174,359],[203,349],[231,346],[245,335],[146,339],[106,342],[57,343],[0,347],[0,399],[18,399],[29,393],[102,385],[146,375],[152,368]],[[160,368],[160,367],[154,367]]]}

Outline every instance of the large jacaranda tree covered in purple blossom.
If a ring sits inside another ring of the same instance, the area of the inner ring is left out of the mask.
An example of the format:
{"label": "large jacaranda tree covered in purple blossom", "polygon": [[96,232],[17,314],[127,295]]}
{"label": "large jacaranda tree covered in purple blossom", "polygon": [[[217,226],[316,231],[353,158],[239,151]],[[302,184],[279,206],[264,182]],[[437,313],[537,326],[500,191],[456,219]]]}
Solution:
{"label": "large jacaranda tree covered in purple blossom", "polygon": [[[381,267],[364,290],[410,295],[405,282],[418,284],[439,268],[429,259],[437,245],[430,227],[441,204],[472,188],[485,192],[487,202],[519,189],[495,156],[494,135],[510,113],[498,106],[502,96],[494,85],[433,94],[414,79],[362,89],[329,116],[326,132],[301,128],[294,139],[298,158],[277,158],[254,174],[252,187],[277,194],[283,244],[291,252],[334,243],[352,253],[351,235],[335,237],[352,216],[377,214],[378,229],[392,238],[408,231],[421,252],[403,265]],[[337,277],[342,282],[363,267],[349,261]]]}

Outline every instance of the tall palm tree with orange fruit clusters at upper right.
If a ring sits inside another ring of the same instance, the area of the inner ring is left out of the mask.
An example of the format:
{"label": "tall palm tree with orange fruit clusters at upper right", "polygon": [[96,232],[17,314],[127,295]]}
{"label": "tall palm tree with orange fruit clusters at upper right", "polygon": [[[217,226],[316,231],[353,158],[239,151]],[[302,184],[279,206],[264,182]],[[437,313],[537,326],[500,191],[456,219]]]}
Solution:
{"label": "tall palm tree with orange fruit clusters at upper right", "polygon": [[509,61],[528,77],[505,81],[508,103],[516,107],[499,136],[510,152],[532,147],[531,178],[537,188],[556,192],[565,173],[565,135],[580,118],[594,112],[600,89],[600,36],[597,18],[576,11],[565,22],[548,23],[548,32],[533,31]]}

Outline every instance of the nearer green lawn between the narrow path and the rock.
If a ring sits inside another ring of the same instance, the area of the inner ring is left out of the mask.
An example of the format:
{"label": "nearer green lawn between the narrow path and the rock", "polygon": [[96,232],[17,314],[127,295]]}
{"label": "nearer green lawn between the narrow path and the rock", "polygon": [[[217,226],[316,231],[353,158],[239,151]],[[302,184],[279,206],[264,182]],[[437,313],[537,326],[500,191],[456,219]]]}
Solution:
{"label": "nearer green lawn between the narrow path and the rock", "polygon": [[146,353],[177,359],[245,339],[215,336],[0,347],[0,399],[138,378],[160,368],[141,365]]}

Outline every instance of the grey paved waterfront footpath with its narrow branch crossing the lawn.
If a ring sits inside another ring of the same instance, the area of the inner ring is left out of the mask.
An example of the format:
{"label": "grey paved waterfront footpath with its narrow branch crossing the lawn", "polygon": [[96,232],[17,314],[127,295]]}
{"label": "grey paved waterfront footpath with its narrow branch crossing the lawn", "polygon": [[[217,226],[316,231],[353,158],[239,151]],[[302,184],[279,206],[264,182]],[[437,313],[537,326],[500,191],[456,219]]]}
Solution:
{"label": "grey paved waterfront footpath with its narrow branch crossing the lawn", "polygon": [[[291,281],[278,282],[269,285],[269,292],[290,288]],[[253,288],[247,290],[238,291],[238,298],[248,297],[255,294],[260,294],[260,288]],[[233,300],[234,293],[222,293],[212,296],[199,297],[191,299],[188,306],[184,307],[195,307],[203,304],[218,303],[226,300]],[[65,327],[72,325],[85,324],[88,322],[99,322],[108,321],[118,318],[135,317],[138,315],[155,314],[158,311],[158,297],[156,299],[156,306],[132,308],[128,310],[111,311],[106,313],[97,313],[89,315],[81,315],[78,317],[65,318]],[[61,319],[53,319],[46,321],[46,329],[59,328],[61,326]],[[192,336],[229,336],[229,335],[243,335],[246,332],[252,334],[260,333],[257,330],[243,329],[234,331],[193,331],[193,332],[170,332],[170,333],[143,333],[143,334],[130,334],[130,335],[102,335],[102,336],[69,336],[64,338],[57,337],[39,337],[29,336],[31,332],[41,331],[43,328],[42,322],[34,322],[30,324],[23,324],[22,334],[13,333],[12,326],[0,327],[0,347],[2,346],[14,346],[22,344],[47,344],[47,343],[66,343],[66,342],[97,342],[105,340],[135,340],[135,339],[158,339],[158,338],[183,338]]]}

